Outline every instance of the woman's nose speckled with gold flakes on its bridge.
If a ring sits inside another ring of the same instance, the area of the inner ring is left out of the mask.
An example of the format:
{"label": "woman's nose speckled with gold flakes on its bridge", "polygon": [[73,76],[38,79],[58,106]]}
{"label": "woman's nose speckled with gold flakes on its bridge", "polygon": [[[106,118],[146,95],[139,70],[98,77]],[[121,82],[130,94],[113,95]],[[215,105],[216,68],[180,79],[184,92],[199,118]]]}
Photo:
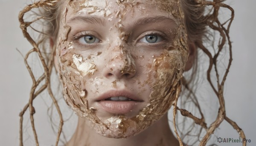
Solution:
{"label": "woman's nose speckled with gold flakes on its bridge", "polygon": [[126,78],[134,77],[136,74],[136,66],[131,54],[119,53],[112,57],[105,68],[103,69],[103,75],[108,78]]}

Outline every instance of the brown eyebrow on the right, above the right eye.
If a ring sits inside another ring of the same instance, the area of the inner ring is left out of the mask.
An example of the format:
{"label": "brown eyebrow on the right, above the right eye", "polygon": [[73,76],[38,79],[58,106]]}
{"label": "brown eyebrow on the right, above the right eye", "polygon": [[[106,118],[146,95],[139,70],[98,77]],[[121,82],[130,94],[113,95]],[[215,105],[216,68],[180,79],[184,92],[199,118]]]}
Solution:
{"label": "brown eyebrow on the right, above the right eye", "polygon": [[149,23],[160,23],[163,21],[171,21],[173,23],[176,23],[176,21],[172,18],[165,17],[165,16],[155,16],[155,17],[143,17],[138,19],[134,25],[135,26],[141,26]]}

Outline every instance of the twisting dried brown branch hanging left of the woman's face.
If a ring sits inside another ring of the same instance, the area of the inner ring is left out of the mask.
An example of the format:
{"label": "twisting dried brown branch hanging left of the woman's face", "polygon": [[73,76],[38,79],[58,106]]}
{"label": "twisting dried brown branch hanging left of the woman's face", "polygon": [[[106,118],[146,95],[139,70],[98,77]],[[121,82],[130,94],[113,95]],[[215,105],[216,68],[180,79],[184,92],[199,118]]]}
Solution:
{"label": "twisting dried brown branch hanging left of the woman's face", "polygon": [[[42,19],[43,17],[39,17],[39,18],[37,18],[37,19],[35,19],[35,20],[31,21],[31,22],[25,22],[23,20],[23,17],[24,17],[24,14],[26,14],[27,12],[29,12],[33,8],[39,8],[39,7],[45,7],[45,6],[54,6],[56,2],[58,2],[58,0],[41,0],[41,1],[38,1],[36,3],[31,4],[29,6],[26,6],[19,13],[19,17],[18,18],[19,18],[19,22],[20,22],[20,29],[22,30],[24,37],[26,37],[26,39],[29,41],[29,43],[33,46],[33,49],[30,50],[26,54],[26,56],[24,58],[24,62],[26,64],[26,68],[28,69],[29,74],[30,74],[30,76],[32,78],[32,88],[30,90],[29,103],[26,104],[26,106],[20,112],[20,146],[23,146],[23,115],[27,111],[28,108],[29,108],[29,115],[30,115],[31,126],[32,126],[32,130],[33,130],[33,133],[34,133],[34,137],[35,137],[35,143],[36,143],[37,146],[39,146],[38,137],[37,137],[37,133],[36,133],[36,130],[35,130],[34,117],[33,117],[33,115],[35,114],[35,108],[33,106],[33,101],[38,96],[38,94],[40,94],[42,91],[44,91],[44,89],[47,88],[47,86],[50,87],[49,86],[50,85],[50,81],[49,81],[49,68],[50,68],[50,70],[52,68],[52,61],[50,61],[51,62],[50,63],[50,67],[48,67],[47,63],[45,62],[45,59],[44,59],[43,55],[41,54],[41,50],[39,49],[38,44],[35,42],[35,40],[32,39],[32,37],[27,32],[27,27],[29,27],[32,23],[35,23],[36,21]],[[32,52],[35,52],[35,53],[38,54],[38,57],[40,58],[42,66],[44,67],[44,74],[41,77],[39,77],[38,80],[35,80],[35,76],[34,76],[34,74],[32,72],[32,69],[29,66],[28,62],[27,62],[27,59],[28,59],[29,55]],[[39,88],[39,90],[37,92],[35,92],[36,88],[39,86],[39,83],[42,80],[45,80],[44,85],[42,85]],[[58,110],[59,115],[60,115],[60,119],[61,120],[60,120],[59,133],[61,133],[61,127],[63,125],[63,120],[62,120],[62,117],[61,117],[60,109],[58,107],[58,103],[55,100],[55,97],[53,97],[53,94],[52,94],[51,90],[48,89],[48,92],[49,92],[50,96],[52,97],[52,100],[55,103],[55,107]],[[60,134],[58,134],[58,137],[59,137],[59,135]],[[57,141],[56,141],[56,146],[57,145],[58,145],[58,138],[57,138]]]}

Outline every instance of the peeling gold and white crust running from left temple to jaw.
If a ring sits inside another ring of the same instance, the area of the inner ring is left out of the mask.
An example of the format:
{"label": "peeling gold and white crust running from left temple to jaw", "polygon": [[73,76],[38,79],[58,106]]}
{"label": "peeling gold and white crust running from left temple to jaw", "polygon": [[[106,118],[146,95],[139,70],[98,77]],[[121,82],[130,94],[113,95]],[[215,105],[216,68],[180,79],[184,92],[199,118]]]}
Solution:
{"label": "peeling gold and white crust running from left temple to jaw", "polygon": [[[96,72],[96,66],[92,61],[83,60],[83,57],[76,54],[71,41],[67,41],[70,33],[70,26],[66,25],[67,11],[64,9],[63,19],[61,21],[59,40],[58,40],[58,66],[61,82],[63,84],[63,94],[66,103],[81,117],[86,117],[93,123],[101,124],[105,127],[95,115],[96,109],[89,108],[87,102],[87,90],[85,89],[86,79],[84,76],[93,75]],[[101,54],[100,52],[97,55]]]}

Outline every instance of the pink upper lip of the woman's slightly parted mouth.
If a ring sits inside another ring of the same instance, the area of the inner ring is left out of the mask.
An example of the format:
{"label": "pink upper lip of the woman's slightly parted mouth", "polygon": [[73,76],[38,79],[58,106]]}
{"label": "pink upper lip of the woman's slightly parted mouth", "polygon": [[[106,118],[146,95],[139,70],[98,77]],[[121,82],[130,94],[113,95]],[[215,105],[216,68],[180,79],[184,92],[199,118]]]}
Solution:
{"label": "pink upper lip of the woman's slightly parted mouth", "polygon": [[132,92],[126,91],[126,90],[109,90],[107,92],[104,92],[99,97],[96,98],[96,101],[106,100],[110,97],[116,97],[116,96],[122,96],[130,98],[131,100],[135,101],[143,101],[136,95],[134,95]]}

